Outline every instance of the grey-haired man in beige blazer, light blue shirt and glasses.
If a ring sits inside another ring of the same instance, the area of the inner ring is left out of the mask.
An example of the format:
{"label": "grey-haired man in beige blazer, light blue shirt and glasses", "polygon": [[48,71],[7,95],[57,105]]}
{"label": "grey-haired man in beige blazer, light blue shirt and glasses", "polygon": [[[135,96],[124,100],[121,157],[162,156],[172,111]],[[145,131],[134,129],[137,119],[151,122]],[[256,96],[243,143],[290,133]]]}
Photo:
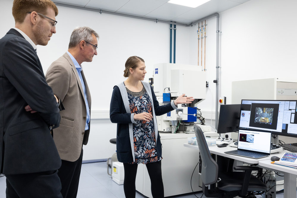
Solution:
{"label": "grey-haired man in beige blazer, light blue shirt and glasses", "polygon": [[58,175],[64,198],[76,197],[83,159],[83,144],[90,132],[91,95],[81,63],[91,62],[97,55],[98,34],[89,27],[73,30],[68,51],[54,61],[45,75],[54,94],[62,100],[60,127],[53,130],[53,138],[62,165]]}

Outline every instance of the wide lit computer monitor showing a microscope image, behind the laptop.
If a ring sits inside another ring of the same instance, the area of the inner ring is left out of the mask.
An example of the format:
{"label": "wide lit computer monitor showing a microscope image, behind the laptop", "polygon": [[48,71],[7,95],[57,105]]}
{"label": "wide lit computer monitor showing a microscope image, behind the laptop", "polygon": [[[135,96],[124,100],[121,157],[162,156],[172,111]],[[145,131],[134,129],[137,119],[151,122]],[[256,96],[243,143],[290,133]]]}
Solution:
{"label": "wide lit computer monitor showing a microscope image, behind the laptop", "polygon": [[242,100],[240,129],[297,137],[297,100]]}

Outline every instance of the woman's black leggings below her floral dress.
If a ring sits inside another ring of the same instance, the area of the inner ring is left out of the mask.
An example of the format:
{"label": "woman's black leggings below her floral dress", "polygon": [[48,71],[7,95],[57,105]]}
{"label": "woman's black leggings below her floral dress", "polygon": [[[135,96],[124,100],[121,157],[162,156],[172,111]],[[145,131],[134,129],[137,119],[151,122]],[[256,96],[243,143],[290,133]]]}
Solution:
{"label": "woman's black leggings below her floral dress", "polygon": [[[135,179],[138,164],[124,164],[124,193],[125,197],[135,197]],[[164,197],[164,187],[162,181],[161,161],[147,163],[146,168],[151,179],[151,194],[154,198]]]}

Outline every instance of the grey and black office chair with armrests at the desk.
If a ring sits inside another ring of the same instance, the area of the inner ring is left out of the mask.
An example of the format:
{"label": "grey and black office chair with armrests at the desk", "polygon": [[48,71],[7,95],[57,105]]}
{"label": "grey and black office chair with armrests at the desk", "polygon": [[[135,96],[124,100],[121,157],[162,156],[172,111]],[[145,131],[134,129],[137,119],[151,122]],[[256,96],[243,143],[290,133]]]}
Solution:
{"label": "grey and black office chair with armrests at the desk", "polygon": [[254,175],[252,171],[259,167],[235,166],[234,170],[244,172],[220,172],[216,161],[211,157],[208,145],[200,127],[195,124],[194,131],[202,160],[201,180],[202,191],[206,197],[252,197],[249,192],[265,191],[267,186]]}

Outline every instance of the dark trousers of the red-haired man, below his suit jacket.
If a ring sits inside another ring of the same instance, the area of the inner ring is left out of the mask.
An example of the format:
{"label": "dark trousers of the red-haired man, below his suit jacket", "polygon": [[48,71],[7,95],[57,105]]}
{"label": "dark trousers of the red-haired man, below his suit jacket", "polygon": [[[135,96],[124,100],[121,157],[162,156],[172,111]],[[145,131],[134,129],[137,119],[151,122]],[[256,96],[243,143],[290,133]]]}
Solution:
{"label": "dark trousers of the red-haired man, below his suit jacket", "polygon": [[58,170],[5,176],[7,198],[62,198]]}

